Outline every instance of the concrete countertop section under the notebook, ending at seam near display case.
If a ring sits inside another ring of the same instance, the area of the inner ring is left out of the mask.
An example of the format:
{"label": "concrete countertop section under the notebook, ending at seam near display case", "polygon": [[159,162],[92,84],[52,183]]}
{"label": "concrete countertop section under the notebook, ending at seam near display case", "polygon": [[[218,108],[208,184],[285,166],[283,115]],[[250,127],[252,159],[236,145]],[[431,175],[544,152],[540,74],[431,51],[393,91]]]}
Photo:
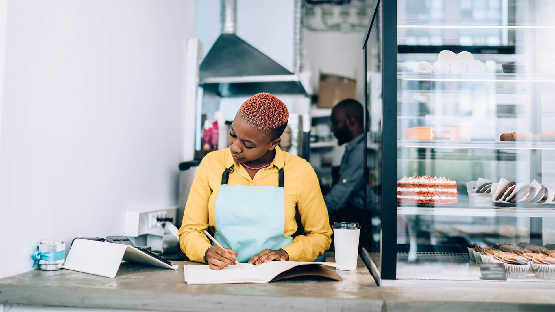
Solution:
{"label": "concrete countertop section under the notebook, ending at seam near display case", "polygon": [[113,279],[65,269],[32,270],[0,279],[0,304],[158,311],[258,311],[261,306],[287,311],[339,310],[365,308],[367,303],[356,299],[376,288],[360,258],[357,270],[336,270],[342,282],[295,278],[268,284],[188,285],[183,265],[203,264],[171,263],[179,269],[122,263]]}

